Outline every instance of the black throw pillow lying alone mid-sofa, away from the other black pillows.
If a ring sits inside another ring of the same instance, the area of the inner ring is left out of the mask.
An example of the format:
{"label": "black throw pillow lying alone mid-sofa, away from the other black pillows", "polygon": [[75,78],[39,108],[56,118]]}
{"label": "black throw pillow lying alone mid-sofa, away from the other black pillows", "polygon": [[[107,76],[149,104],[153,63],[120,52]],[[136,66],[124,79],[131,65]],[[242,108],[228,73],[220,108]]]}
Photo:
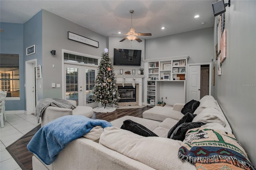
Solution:
{"label": "black throw pillow lying alone mid-sofa, away from the other black pillows", "polygon": [[121,129],[129,130],[130,132],[133,132],[135,134],[138,134],[144,137],[157,136],[154,132],[152,132],[145,126],[138,124],[136,122],[133,122],[132,120],[124,120],[124,123],[121,126]]}

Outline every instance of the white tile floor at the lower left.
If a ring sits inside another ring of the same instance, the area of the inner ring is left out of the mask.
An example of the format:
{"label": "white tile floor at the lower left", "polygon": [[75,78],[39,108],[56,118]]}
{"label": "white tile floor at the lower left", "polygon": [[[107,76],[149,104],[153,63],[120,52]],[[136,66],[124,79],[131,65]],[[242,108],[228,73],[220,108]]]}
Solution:
{"label": "white tile floor at the lower left", "polygon": [[6,114],[6,120],[4,128],[0,128],[0,170],[21,170],[6,147],[38,125],[36,116]]}

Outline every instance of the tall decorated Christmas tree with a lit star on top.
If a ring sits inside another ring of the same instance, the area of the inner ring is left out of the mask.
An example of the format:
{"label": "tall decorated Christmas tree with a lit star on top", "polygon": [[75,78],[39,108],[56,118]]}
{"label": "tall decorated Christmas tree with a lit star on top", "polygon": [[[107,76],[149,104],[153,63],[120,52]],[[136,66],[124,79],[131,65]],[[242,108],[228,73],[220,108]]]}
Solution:
{"label": "tall decorated Christmas tree with a lit star on top", "polygon": [[108,103],[117,105],[120,98],[114,69],[107,48],[105,48],[105,52],[102,53],[92,96],[96,102],[103,104],[104,108],[106,108],[106,104]]}

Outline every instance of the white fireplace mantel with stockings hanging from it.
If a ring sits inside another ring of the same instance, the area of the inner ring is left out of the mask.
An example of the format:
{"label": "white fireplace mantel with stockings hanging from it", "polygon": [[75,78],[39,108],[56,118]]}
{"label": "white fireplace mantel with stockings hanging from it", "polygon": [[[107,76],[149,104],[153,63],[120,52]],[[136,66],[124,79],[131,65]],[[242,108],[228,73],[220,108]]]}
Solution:
{"label": "white fireplace mantel with stockings hanging from it", "polygon": [[142,106],[142,78],[144,75],[131,75],[131,74],[116,74],[116,83],[117,84],[132,84],[132,79],[135,78],[135,84],[139,84],[139,102],[138,105]]}

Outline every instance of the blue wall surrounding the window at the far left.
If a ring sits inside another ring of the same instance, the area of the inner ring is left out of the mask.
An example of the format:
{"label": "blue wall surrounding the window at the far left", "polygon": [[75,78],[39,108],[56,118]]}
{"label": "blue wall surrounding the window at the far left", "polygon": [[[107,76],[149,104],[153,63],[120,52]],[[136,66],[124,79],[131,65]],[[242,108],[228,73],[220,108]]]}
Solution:
{"label": "blue wall surrounding the window at the far left", "polygon": [[23,24],[1,22],[0,53],[19,54],[20,100],[7,100],[5,110],[25,110]]}

